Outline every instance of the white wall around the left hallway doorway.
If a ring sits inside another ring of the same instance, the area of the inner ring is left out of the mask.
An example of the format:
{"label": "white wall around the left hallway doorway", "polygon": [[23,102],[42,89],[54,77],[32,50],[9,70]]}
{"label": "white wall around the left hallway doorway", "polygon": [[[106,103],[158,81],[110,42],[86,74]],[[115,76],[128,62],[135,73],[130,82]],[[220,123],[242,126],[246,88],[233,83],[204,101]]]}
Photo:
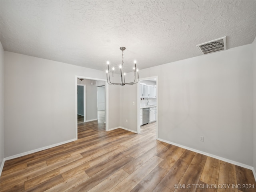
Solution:
{"label": "white wall around the left hallway doorway", "polygon": [[[74,139],[75,76],[106,78],[103,71],[12,52],[4,64],[5,157]],[[119,124],[112,116],[119,112],[112,112],[119,108],[116,94],[110,88],[109,128]]]}

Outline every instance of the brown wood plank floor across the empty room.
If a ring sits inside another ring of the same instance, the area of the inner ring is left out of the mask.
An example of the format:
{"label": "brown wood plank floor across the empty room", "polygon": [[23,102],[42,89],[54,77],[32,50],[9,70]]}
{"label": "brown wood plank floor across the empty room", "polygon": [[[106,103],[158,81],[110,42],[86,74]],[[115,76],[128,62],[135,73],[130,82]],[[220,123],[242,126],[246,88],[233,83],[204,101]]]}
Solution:
{"label": "brown wood plank floor across the empty room", "polygon": [[256,191],[251,170],[160,142],[155,123],[106,132],[102,118],[79,123],[74,142],[6,161],[0,182],[1,192]]}

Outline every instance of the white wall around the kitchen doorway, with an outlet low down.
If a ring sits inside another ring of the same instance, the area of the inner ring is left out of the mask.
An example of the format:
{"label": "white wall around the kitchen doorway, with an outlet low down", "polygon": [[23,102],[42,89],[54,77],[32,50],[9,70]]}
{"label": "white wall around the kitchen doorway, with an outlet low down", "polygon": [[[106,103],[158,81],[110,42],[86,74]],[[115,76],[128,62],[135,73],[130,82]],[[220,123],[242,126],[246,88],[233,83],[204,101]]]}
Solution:
{"label": "white wall around the kitchen doorway, with an outlet low down", "polygon": [[[252,166],[250,48],[240,46],[140,70],[140,78],[158,76],[158,137]],[[124,88],[121,96],[127,102],[120,102],[120,113],[125,111],[126,116],[120,116],[120,122],[125,124],[128,118],[136,127],[136,109],[130,104],[136,88]]]}

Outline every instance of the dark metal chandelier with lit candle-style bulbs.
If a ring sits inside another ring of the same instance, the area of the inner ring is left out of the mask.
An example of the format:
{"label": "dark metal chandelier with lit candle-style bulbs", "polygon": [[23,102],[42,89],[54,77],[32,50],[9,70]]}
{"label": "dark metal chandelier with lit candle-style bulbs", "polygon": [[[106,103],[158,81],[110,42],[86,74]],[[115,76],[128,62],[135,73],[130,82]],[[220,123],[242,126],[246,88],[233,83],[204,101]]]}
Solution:
{"label": "dark metal chandelier with lit candle-style bulbs", "polygon": [[[129,82],[129,83],[125,82],[125,76],[126,76],[126,73],[124,72],[124,50],[125,49],[126,49],[125,47],[120,47],[120,50],[122,51],[122,65],[120,64],[120,66],[119,66],[121,83],[114,83],[114,70],[115,70],[114,67],[112,68],[112,71],[111,71],[112,72],[112,82],[111,82],[111,80],[110,80],[110,70],[109,70],[109,61],[107,61],[108,70],[106,70],[106,74],[107,74],[107,82],[110,85],[121,85],[121,86],[124,86],[126,84],[127,85],[133,85],[135,83],[138,83],[138,81],[139,81],[139,72],[138,72],[138,68],[136,68],[136,60],[134,60],[133,81]],[[137,74],[136,74],[136,72],[137,72]]]}

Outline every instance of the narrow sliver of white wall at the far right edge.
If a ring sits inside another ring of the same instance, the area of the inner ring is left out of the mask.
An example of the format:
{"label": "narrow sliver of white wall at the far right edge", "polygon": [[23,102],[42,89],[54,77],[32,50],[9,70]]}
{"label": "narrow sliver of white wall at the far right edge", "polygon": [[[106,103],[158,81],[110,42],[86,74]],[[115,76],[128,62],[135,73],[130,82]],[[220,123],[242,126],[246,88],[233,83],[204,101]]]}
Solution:
{"label": "narrow sliver of white wall at the far right edge", "polygon": [[256,171],[256,38],[254,39],[254,42],[252,43],[252,55],[253,55],[253,118],[254,118],[254,134],[253,134],[253,166],[254,170]]}

